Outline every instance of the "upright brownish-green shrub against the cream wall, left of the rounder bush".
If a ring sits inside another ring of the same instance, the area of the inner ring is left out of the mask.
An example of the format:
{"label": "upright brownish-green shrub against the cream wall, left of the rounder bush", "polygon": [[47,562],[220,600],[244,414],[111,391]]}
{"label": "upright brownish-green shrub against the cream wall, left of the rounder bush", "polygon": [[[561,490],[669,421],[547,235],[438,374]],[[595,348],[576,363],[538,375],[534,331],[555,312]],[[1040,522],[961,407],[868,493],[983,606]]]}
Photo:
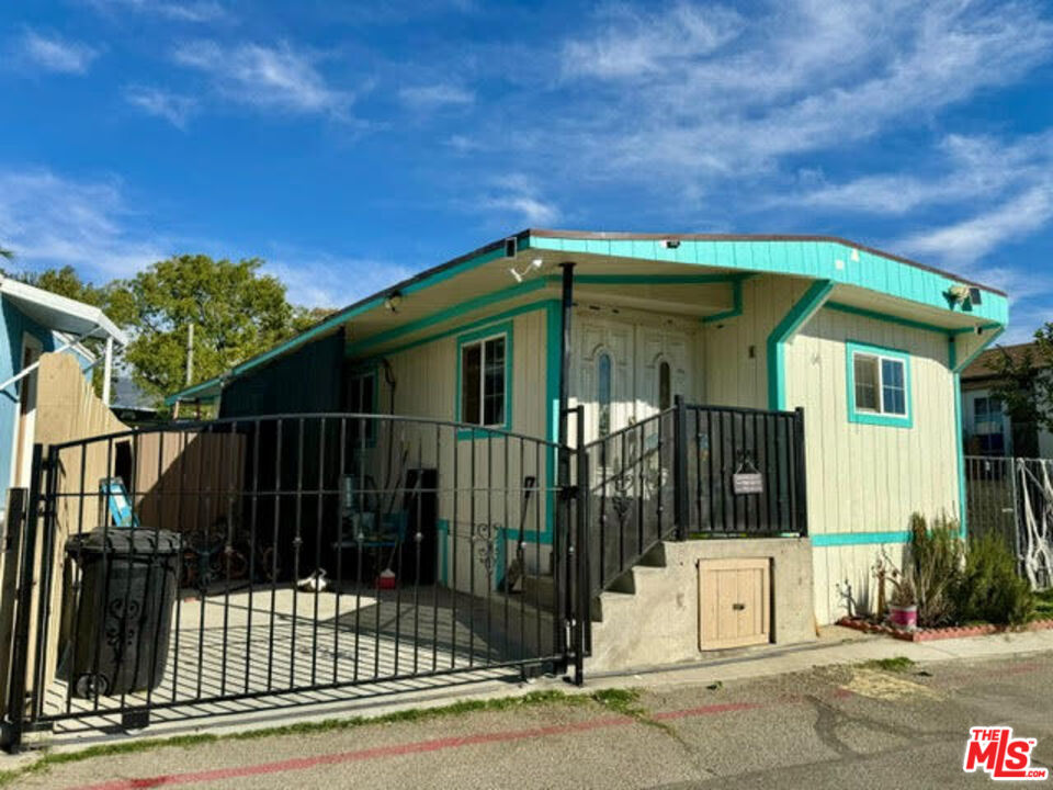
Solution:
{"label": "upright brownish-green shrub against the cream wall, left of the rounder bush", "polygon": [[962,539],[958,521],[940,517],[928,528],[925,517],[910,517],[906,576],[914,582],[918,624],[937,628],[954,622],[954,589],[962,573]]}

